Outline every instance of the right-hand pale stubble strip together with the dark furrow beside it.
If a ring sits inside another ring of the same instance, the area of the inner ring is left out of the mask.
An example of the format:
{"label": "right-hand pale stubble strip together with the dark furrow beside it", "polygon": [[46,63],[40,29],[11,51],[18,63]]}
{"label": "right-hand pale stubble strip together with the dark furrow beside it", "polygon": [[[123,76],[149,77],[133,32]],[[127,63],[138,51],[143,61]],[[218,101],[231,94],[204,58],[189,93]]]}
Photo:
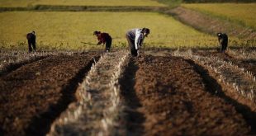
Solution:
{"label": "right-hand pale stubble strip together with the dark furrow beside it", "polygon": [[[251,133],[255,134],[256,81],[253,73],[216,56],[200,56],[192,54],[189,50],[186,52],[175,51],[173,54],[192,59],[193,62],[191,63],[196,65],[197,69],[201,69],[198,70],[201,75],[214,77],[221,87],[212,87],[213,91],[216,91],[216,94],[224,97],[235,106],[236,110],[244,116],[244,120],[250,125]],[[206,82],[212,82],[207,78],[206,80]]]}

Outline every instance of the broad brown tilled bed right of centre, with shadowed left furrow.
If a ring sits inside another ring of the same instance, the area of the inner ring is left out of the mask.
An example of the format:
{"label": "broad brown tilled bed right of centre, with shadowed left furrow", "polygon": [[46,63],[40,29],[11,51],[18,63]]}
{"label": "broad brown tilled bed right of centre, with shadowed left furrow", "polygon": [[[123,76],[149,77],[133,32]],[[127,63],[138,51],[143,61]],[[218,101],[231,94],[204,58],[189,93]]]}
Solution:
{"label": "broad brown tilled bed right of centre, with shadowed left furrow", "polygon": [[[131,134],[249,134],[249,125],[235,106],[209,92],[192,63],[172,56],[145,55],[129,67],[126,73],[128,77],[135,74],[135,81],[126,78],[128,81],[123,82],[128,84],[121,85],[125,94],[134,96],[125,96],[129,107],[126,124]],[[133,84],[135,88],[129,89]]]}

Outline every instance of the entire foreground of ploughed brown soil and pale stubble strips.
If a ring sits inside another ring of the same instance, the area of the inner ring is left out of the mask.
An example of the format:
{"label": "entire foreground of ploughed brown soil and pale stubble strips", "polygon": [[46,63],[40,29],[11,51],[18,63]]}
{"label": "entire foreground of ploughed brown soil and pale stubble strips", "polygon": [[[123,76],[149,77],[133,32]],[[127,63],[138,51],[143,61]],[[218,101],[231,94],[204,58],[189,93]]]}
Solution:
{"label": "entire foreground of ploughed brown soil and pale stubble strips", "polygon": [[254,135],[255,56],[235,53],[45,54],[2,74],[1,133]]}

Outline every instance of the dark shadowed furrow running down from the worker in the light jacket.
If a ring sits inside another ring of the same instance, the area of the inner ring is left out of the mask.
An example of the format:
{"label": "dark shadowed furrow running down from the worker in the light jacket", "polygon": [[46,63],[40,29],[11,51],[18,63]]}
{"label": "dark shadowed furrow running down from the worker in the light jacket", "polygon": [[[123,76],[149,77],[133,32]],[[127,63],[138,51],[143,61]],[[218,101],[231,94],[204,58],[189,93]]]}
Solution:
{"label": "dark shadowed furrow running down from the worker in the light jacket", "polygon": [[135,93],[135,73],[139,67],[135,64],[135,59],[130,58],[130,61],[119,79],[121,85],[121,96],[125,101],[126,113],[125,119],[122,119],[126,125],[127,135],[141,135],[144,132],[143,123],[145,122],[145,115],[138,109],[142,106],[139,98]]}

